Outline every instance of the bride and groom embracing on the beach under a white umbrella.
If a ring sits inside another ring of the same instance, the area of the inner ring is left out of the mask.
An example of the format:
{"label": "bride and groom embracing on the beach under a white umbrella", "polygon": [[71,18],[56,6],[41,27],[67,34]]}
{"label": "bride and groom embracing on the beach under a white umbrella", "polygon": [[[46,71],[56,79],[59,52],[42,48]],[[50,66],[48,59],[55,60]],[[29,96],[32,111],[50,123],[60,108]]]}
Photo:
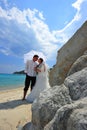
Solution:
{"label": "bride and groom embracing on the beach under a white umbrella", "polygon": [[[28,102],[32,103],[39,97],[42,91],[50,88],[48,81],[48,69],[43,58],[39,58],[38,55],[34,55],[32,60],[27,60],[25,73],[26,78],[22,100],[25,100],[26,98]],[[29,87],[31,88],[31,92],[26,97]]]}

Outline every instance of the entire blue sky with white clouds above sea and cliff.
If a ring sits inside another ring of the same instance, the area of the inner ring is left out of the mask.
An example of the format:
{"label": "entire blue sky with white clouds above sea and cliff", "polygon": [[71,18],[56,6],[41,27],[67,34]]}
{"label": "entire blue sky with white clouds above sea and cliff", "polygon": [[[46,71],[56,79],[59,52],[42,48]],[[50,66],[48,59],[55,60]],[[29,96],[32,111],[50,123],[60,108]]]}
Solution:
{"label": "entire blue sky with white clouds above sea and cliff", "polygon": [[0,73],[24,70],[24,55],[32,50],[52,68],[86,20],[87,0],[0,0]]}

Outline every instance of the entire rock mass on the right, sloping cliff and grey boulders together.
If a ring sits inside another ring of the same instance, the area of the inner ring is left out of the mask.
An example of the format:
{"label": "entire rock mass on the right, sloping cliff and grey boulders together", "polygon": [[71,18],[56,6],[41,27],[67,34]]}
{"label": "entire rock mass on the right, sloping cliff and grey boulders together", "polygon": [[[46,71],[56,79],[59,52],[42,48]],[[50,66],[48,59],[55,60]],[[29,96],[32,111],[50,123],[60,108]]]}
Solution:
{"label": "entire rock mass on the right, sloping cliff and grey boulders together", "polygon": [[87,22],[60,49],[52,87],[34,101],[32,122],[23,130],[87,130],[86,38]]}

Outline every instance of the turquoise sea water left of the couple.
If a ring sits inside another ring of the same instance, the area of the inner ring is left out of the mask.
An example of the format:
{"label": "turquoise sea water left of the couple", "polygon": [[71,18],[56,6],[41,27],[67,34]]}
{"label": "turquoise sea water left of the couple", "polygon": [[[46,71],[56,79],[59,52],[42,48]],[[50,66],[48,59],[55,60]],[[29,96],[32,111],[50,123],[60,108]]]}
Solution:
{"label": "turquoise sea water left of the couple", "polygon": [[22,74],[0,74],[0,90],[23,87],[25,75]]}

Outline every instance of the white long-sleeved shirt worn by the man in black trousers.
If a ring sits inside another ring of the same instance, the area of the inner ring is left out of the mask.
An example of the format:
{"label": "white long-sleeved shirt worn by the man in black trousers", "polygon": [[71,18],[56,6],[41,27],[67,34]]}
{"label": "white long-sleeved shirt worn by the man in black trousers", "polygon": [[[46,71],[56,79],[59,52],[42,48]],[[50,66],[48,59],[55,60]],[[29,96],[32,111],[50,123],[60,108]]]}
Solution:
{"label": "white long-sleeved shirt worn by the man in black trousers", "polygon": [[37,66],[37,63],[34,62],[33,60],[28,60],[26,62],[25,66],[25,73],[29,76],[36,76],[36,71],[34,71],[34,68]]}

